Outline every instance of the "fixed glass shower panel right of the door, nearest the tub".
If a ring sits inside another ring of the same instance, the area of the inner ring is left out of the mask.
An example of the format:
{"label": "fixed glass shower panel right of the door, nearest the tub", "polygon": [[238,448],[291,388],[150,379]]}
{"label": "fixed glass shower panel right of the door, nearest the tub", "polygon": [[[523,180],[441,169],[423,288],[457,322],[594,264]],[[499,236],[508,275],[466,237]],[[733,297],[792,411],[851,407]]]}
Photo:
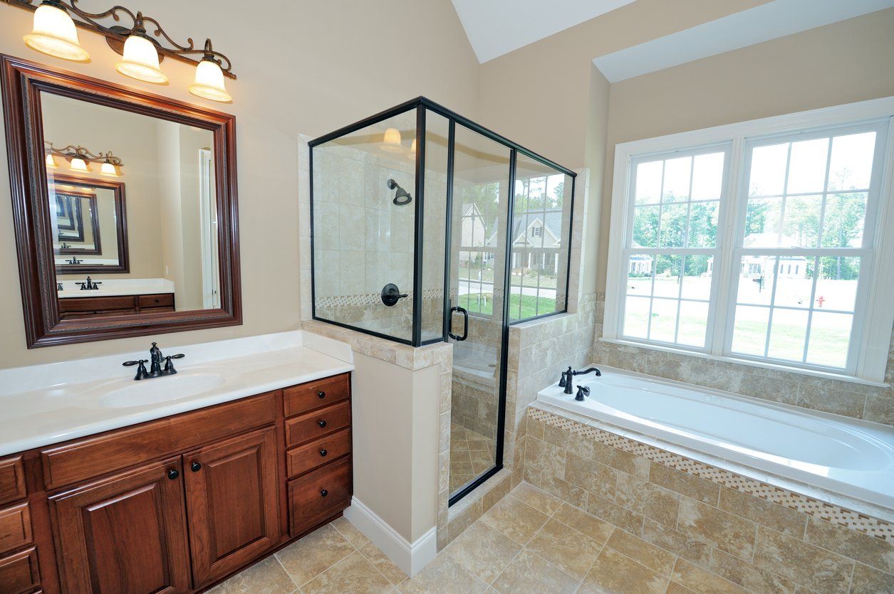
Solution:
{"label": "fixed glass shower panel right of the door, nearest the tub", "polygon": [[564,312],[568,286],[571,189],[565,172],[519,155],[512,221],[510,320]]}

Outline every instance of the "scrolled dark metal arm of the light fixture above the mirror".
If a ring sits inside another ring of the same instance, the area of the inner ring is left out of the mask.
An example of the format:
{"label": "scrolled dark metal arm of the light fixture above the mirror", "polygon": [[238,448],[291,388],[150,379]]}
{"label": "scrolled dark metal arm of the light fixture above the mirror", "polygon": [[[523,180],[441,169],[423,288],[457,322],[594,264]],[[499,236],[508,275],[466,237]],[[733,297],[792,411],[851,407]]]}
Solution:
{"label": "scrolled dark metal arm of the light fixture above the mirror", "polygon": [[[205,40],[205,45],[201,48],[196,47],[192,38],[187,38],[185,44],[179,44],[164,31],[164,28],[162,28],[158,21],[152,17],[144,16],[143,13],[138,12],[134,14],[130,9],[120,5],[113,6],[102,13],[88,13],[80,9],[77,5],[78,1],[79,0],[43,0],[44,3],[52,4],[56,8],[69,13],[72,16],[74,24],[81,29],[95,31],[100,35],[105,36],[106,43],[108,43],[108,45],[118,54],[122,54],[124,41],[127,37],[131,35],[131,33],[138,33],[145,35],[146,38],[156,46],[160,59],[164,56],[169,56],[175,60],[180,60],[181,62],[193,65],[198,64],[199,60],[203,58],[210,59],[221,67],[224,76],[230,79],[236,78],[236,75],[232,73],[232,63],[230,62],[230,58],[213,49],[210,38]],[[38,5],[41,4],[38,0],[0,0],[0,2],[18,6],[19,8],[24,8],[30,11],[36,11]],[[122,16],[130,21],[130,26],[104,25],[100,22],[108,19],[115,22],[121,22]],[[149,29],[146,28],[147,23],[152,25]],[[148,36],[147,30],[150,30],[155,38]],[[195,60],[190,58],[190,55],[201,55],[202,57],[199,58],[199,60]]]}

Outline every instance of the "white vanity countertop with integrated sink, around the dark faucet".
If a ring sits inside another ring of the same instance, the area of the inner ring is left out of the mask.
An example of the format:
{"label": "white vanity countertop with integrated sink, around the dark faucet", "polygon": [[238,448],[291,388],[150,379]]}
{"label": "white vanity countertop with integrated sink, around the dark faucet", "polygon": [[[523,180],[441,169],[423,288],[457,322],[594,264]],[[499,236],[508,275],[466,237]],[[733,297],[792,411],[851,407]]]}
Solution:
{"label": "white vanity countertop with integrated sink, around the dark faucet", "polygon": [[[122,362],[147,359],[150,342],[145,352],[0,370],[0,456],[354,369],[348,345],[297,330],[184,347],[164,347],[161,337],[164,355],[186,355],[179,373],[134,381],[136,367]],[[128,400],[141,395],[164,401]]]}

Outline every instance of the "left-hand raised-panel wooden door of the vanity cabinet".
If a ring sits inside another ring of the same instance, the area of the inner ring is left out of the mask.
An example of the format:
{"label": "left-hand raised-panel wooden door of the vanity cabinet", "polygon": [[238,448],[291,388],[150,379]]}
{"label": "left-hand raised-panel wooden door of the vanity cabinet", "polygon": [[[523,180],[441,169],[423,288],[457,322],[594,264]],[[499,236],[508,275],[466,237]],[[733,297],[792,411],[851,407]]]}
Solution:
{"label": "left-hand raised-panel wooden door of the vanity cabinet", "polygon": [[180,459],[54,495],[65,592],[190,590]]}

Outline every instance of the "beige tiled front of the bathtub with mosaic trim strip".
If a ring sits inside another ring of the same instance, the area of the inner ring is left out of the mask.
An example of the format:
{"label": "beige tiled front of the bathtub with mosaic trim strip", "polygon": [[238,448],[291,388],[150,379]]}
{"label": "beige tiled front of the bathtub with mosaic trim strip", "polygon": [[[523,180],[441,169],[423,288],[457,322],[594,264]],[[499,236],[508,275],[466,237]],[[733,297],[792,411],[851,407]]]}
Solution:
{"label": "beige tiled front of the bathtub with mosaic trim strip", "polygon": [[663,573],[701,592],[894,591],[890,523],[537,405],[526,428],[525,480],[622,531],[633,567],[657,583]]}

